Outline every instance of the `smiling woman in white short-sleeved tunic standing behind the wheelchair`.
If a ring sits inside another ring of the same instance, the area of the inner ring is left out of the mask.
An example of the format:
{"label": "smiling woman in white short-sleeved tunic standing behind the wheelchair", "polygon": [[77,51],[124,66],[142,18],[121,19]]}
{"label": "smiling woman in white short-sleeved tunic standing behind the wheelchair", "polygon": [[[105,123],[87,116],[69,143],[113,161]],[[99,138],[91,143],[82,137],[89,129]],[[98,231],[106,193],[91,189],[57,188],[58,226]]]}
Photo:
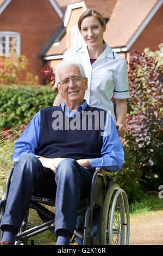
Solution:
{"label": "smiling woman in white short-sleeved tunic standing behind the wheelchair", "polygon": [[[80,49],[68,49],[62,61],[75,61],[83,65],[88,79],[85,99],[90,106],[96,106],[110,113],[118,126],[119,136],[124,136],[124,122],[127,114],[126,98],[129,98],[126,60],[113,52],[103,40],[105,20],[95,10],[86,10],[79,18],[78,28],[86,43]],[[116,118],[112,96],[116,98]],[[54,106],[60,105],[60,94]]]}

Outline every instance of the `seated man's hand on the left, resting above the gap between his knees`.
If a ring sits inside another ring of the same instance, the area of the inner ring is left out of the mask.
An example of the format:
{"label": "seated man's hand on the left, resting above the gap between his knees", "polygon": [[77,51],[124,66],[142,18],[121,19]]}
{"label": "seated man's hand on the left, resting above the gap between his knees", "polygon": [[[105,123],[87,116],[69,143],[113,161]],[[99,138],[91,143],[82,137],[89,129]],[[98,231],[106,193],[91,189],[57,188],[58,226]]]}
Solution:
{"label": "seated man's hand on the left, resting above the gap between his knees", "polygon": [[46,158],[46,157],[39,157],[43,167],[49,168],[52,171],[56,171],[58,164],[66,158],[56,157],[56,158]]}

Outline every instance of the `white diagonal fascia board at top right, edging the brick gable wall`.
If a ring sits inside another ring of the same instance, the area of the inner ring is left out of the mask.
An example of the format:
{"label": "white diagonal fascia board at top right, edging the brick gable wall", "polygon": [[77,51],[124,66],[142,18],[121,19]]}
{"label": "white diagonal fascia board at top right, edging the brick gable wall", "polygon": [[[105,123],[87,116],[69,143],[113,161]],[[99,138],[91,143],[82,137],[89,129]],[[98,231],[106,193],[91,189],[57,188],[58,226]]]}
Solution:
{"label": "white diagonal fascia board at top right, edging the brick gable wall", "polygon": [[143,29],[145,29],[145,27],[148,25],[149,21],[151,21],[151,19],[153,18],[153,16],[155,15],[156,11],[159,10],[159,8],[161,7],[163,3],[163,0],[159,0],[154,8],[151,10],[151,12],[148,14],[148,16],[146,17],[146,19],[142,22],[142,24],[140,25],[140,27],[136,30],[136,32],[134,33],[134,35],[131,37],[131,39],[128,41],[126,47],[129,50],[130,47],[135,43],[136,39],[139,37],[139,35],[142,33]]}

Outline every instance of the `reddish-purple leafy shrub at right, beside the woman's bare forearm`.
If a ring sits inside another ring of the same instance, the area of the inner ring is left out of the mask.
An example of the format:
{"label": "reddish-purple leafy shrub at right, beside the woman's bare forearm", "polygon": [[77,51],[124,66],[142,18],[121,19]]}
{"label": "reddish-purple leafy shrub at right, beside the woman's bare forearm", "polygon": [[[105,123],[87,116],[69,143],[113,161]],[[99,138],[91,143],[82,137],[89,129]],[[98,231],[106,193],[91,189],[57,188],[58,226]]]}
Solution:
{"label": "reddish-purple leafy shrub at right, beside the woman's bare forearm", "polygon": [[155,56],[138,51],[131,53],[129,63],[130,98],[125,144],[135,154],[146,178],[150,172],[153,178],[159,177],[159,170],[155,172],[154,166],[160,166],[162,159],[163,66],[158,63],[158,56],[156,60]]}

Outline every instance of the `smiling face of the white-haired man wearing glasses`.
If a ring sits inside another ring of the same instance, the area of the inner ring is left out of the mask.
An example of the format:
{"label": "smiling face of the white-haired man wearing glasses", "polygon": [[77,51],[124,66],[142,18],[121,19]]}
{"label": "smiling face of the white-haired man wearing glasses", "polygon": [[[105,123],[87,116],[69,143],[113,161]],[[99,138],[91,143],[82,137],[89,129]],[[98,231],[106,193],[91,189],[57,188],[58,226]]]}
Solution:
{"label": "smiling face of the white-haired man wearing glasses", "polygon": [[59,82],[57,85],[64,103],[69,106],[83,104],[85,91],[87,90],[87,78],[83,79],[77,66],[65,66],[58,72]]}

